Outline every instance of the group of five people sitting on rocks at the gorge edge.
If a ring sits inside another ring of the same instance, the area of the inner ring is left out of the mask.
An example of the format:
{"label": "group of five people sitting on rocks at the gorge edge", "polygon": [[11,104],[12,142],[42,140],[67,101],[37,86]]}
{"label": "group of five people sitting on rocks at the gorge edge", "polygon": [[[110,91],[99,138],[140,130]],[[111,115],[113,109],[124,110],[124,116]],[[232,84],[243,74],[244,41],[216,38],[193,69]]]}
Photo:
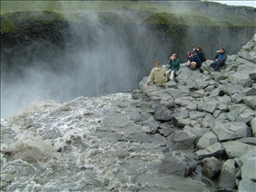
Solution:
{"label": "group of five people sitting on rocks at the gorge edge", "polygon": [[[200,46],[197,46],[193,49],[193,51],[187,53],[187,67],[190,69],[200,69],[202,63],[206,61],[206,57],[204,51]],[[215,60],[210,64],[210,67],[218,71],[219,68],[225,65],[227,59],[227,55],[225,53],[224,48],[220,48],[217,51],[217,55],[215,56]],[[149,86],[151,82],[155,83],[158,86],[162,86],[163,83],[168,80],[173,80],[174,74],[176,71],[180,69],[180,60],[178,59],[177,54],[173,53],[170,57],[168,70],[161,68],[161,63],[156,62],[155,67],[150,71],[150,77],[146,86]]]}

